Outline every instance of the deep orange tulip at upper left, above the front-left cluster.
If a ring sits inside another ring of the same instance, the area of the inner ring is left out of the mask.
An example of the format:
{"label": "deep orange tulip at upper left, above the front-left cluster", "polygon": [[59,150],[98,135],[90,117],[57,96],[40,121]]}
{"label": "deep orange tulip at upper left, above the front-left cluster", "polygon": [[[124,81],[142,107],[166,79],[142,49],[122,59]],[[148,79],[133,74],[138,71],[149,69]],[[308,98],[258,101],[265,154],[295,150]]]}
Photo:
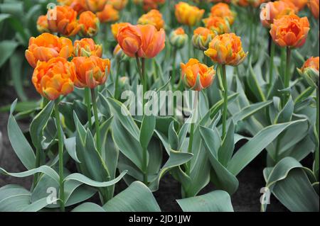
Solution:
{"label": "deep orange tulip at upper left, above the front-left cluster", "polygon": [[57,6],[56,20],[48,20],[48,28],[51,33],[60,33],[65,36],[74,36],[80,30],[80,25],[77,21],[77,12],[70,6]]}

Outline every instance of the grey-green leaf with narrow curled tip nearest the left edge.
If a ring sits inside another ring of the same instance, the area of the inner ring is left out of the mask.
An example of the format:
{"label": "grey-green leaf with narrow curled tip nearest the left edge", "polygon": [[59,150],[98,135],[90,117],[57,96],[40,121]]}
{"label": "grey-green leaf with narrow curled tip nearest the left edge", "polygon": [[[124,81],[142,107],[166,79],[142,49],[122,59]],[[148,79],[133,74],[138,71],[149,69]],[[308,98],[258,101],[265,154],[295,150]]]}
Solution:
{"label": "grey-green leaf with narrow curled tip nearest the left edge", "polygon": [[10,109],[10,115],[8,120],[8,135],[11,142],[11,146],[14,148],[14,152],[22,162],[26,169],[33,169],[36,166],[36,155],[33,152],[31,145],[24,137],[23,132],[18,127],[16,119],[14,118],[14,108],[16,107],[16,101],[12,103]]}

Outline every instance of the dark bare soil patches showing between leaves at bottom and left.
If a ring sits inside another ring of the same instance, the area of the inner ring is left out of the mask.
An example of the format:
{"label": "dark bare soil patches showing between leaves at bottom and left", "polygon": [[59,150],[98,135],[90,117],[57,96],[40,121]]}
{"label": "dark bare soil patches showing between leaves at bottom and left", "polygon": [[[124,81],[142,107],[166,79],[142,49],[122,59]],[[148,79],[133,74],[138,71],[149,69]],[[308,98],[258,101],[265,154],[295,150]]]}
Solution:
{"label": "dark bare soil patches showing between leaves at bottom and left", "polygon": [[[16,98],[16,94],[13,88],[1,90],[0,93],[0,107],[11,104]],[[29,98],[37,98],[37,94],[33,89],[26,89],[26,93]],[[26,169],[16,157],[14,150],[12,149],[6,130],[9,113],[0,113],[0,132],[2,134],[3,146],[1,149],[0,143],[0,166],[7,171],[18,172],[25,171]],[[21,130],[28,130],[30,120],[23,120],[18,122]],[[1,142],[1,136],[0,136]],[[251,162],[242,172],[238,175],[239,188],[238,191],[231,197],[233,208],[235,211],[240,212],[258,212],[260,211],[260,189],[265,186],[265,181],[262,176],[262,170],[265,167],[265,153],[260,154],[253,162]],[[11,176],[4,176],[0,174],[0,187],[9,183],[21,185],[25,188],[31,187],[32,177],[27,178],[14,178]],[[115,193],[119,193],[126,185],[123,181],[117,183]],[[203,188],[200,194],[205,194],[213,191],[213,185],[209,184],[206,188]],[[176,203],[176,199],[181,198],[180,184],[175,181],[169,174],[166,174],[159,186],[159,191],[154,193],[154,197],[162,211],[181,211],[181,208]],[[93,197],[90,201],[97,200],[97,197]],[[271,205],[268,207],[268,211],[282,212],[288,211],[279,201],[272,197]]]}

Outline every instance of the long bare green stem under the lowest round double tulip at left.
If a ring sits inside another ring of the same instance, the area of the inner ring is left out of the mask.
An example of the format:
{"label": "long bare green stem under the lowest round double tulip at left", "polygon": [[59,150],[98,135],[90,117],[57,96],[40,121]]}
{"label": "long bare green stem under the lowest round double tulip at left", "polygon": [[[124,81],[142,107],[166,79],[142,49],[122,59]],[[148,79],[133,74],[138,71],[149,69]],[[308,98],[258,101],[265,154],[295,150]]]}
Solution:
{"label": "long bare green stem under the lowest round double tulip at left", "polygon": [[63,174],[63,135],[60,125],[60,113],[58,109],[59,101],[55,100],[55,123],[58,130],[58,155],[59,155],[59,198],[60,198],[60,210],[65,211],[65,188],[64,188],[64,174]]}

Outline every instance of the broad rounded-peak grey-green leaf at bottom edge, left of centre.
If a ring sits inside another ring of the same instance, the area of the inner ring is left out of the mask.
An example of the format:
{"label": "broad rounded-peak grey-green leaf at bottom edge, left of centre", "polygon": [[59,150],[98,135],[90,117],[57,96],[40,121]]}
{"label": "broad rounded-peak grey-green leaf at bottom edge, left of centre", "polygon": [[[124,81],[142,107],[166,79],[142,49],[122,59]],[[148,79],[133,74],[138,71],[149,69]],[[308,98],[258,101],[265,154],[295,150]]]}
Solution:
{"label": "broad rounded-peak grey-green leaf at bottom edge, left of centre", "polygon": [[107,212],[160,212],[158,203],[144,183],[136,181],[103,206]]}

